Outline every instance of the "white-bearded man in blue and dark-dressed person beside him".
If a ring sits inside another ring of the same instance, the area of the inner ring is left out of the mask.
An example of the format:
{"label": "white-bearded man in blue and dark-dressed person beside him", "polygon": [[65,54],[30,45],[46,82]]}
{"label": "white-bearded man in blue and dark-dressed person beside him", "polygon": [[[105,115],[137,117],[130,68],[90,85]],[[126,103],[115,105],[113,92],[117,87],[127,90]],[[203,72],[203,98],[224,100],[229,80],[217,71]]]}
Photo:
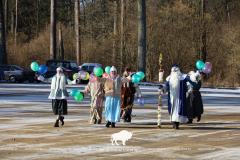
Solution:
{"label": "white-bearded man in blue and dark-dressed person beside him", "polygon": [[174,65],[166,83],[159,86],[160,93],[168,92],[168,112],[175,129],[179,129],[179,123],[192,123],[196,117],[197,122],[201,120],[203,103],[199,92],[200,75],[201,70],[183,74],[180,68]]}

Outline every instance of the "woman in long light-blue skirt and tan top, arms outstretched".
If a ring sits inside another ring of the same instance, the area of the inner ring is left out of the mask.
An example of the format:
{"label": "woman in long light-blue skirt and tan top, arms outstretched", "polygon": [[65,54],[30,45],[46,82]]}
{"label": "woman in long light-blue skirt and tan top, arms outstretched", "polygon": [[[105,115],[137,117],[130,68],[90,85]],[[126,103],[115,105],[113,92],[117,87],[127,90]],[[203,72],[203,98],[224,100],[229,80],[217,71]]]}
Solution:
{"label": "woman in long light-blue skirt and tan top, arms outstretched", "polygon": [[[117,74],[117,69],[112,66],[107,66],[105,68],[107,77],[98,77],[99,74],[95,73],[97,81],[104,84],[105,86],[105,118],[106,118],[106,127],[115,127],[116,122],[120,122],[120,112],[121,112],[121,87],[123,83],[129,82],[131,77],[126,78],[120,77]],[[94,75],[94,76],[95,76]]]}

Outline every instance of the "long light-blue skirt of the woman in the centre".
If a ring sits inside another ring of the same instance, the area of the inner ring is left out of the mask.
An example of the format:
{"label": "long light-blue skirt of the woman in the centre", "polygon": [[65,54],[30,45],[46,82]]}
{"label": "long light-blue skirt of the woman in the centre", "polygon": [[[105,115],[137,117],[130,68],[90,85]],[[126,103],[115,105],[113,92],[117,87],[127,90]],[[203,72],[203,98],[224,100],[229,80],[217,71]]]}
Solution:
{"label": "long light-blue skirt of the woman in the centre", "polygon": [[106,122],[120,122],[121,98],[107,97],[105,102]]}

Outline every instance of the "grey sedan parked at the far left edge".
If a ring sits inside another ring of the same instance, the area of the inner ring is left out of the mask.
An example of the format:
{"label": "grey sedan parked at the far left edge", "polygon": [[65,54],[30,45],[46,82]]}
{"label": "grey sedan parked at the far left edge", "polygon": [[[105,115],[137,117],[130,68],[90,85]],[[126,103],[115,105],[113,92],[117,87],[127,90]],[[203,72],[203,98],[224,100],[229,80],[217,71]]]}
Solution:
{"label": "grey sedan parked at the far left edge", "polygon": [[17,65],[0,65],[0,69],[4,70],[5,80],[15,83],[16,81],[22,83],[26,80],[31,80],[30,71],[25,70]]}

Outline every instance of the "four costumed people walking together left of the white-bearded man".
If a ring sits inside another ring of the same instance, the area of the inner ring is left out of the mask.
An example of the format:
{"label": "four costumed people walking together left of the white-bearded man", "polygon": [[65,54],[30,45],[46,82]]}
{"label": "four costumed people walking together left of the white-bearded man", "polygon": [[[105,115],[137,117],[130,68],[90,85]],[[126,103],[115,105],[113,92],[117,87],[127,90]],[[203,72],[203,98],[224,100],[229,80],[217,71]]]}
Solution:
{"label": "four costumed people walking together left of the white-bearded man", "polygon": [[[96,76],[97,81],[89,82],[84,91],[81,91],[85,98],[90,93],[90,123],[101,124],[102,105],[105,101],[105,119],[106,127],[115,127],[116,122],[131,122],[131,113],[134,102],[134,95],[141,97],[141,92],[136,83],[131,81],[132,75],[130,67],[125,67],[123,76],[117,74],[117,69],[112,66],[110,74],[107,77]],[[77,84],[77,79],[70,81],[63,74],[61,67],[57,68],[57,74],[52,78],[38,76],[38,80],[51,83],[51,93],[49,99],[52,99],[52,110],[57,115],[54,127],[64,125],[64,117],[67,114],[67,99],[69,97],[65,84]]]}

